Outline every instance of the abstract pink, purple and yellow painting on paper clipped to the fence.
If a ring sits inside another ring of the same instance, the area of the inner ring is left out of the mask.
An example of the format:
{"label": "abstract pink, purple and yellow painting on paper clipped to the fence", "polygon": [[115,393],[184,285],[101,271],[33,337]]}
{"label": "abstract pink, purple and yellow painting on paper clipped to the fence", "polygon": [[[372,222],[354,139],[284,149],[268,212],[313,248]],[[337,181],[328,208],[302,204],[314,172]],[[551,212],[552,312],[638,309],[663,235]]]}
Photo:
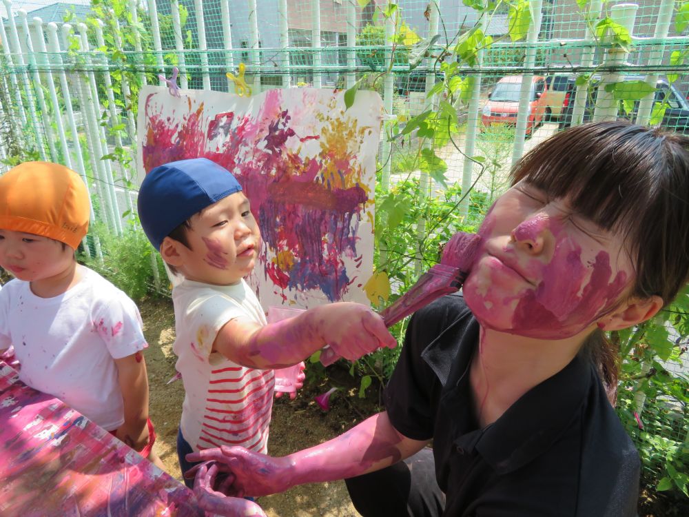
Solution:
{"label": "abstract pink, purple and yellow painting on paper clipped to the fence", "polygon": [[152,168],[205,157],[227,168],[251,201],[263,236],[247,281],[265,309],[369,303],[373,196],[382,101],[358,92],[268,90],[253,97],[141,90],[140,180]]}

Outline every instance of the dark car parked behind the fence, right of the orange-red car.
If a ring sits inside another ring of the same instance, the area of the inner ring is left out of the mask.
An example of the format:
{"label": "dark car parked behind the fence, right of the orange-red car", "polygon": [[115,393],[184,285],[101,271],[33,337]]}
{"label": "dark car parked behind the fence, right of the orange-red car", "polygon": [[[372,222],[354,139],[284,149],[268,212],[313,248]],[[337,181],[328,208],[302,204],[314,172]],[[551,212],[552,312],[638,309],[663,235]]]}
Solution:
{"label": "dark car parked behind the fence, right of the orange-red car", "polygon": [[[625,81],[644,81],[644,76],[630,75],[624,78]],[[589,86],[589,94],[586,96],[586,108],[584,108],[584,122],[593,119],[593,112],[595,110],[595,99],[597,96],[597,83],[600,77],[593,77],[592,84]],[[679,90],[674,85],[668,83],[664,77],[658,79],[656,83],[655,103],[667,101],[668,108],[665,110],[663,120],[660,122],[663,128],[675,130],[680,133],[689,134],[689,101],[683,97]],[[568,88],[568,103],[562,109],[562,116],[559,121],[559,128],[568,128],[572,124],[572,112],[574,110],[574,98],[576,87],[570,85]],[[621,101],[620,101],[621,103]],[[625,113],[621,108],[618,112],[618,118],[634,120],[637,111],[639,110],[639,101],[635,101],[633,109],[630,113]]]}

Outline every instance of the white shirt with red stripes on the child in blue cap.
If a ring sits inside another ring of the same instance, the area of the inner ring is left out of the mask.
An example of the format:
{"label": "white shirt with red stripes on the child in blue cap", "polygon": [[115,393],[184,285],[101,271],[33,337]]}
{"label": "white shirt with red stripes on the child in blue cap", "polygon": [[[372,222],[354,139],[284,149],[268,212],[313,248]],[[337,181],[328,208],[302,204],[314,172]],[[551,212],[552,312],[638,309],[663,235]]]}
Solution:
{"label": "white shirt with red stripes on the child in blue cap", "polygon": [[275,385],[273,370],[247,368],[211,353],[218,331],[234,318],[265,325],[258,298],[245,281],[209,285],[183,280],[172,289],[176,369],[185,397],[180,427],[194,451],[241,445],[267,452]]}

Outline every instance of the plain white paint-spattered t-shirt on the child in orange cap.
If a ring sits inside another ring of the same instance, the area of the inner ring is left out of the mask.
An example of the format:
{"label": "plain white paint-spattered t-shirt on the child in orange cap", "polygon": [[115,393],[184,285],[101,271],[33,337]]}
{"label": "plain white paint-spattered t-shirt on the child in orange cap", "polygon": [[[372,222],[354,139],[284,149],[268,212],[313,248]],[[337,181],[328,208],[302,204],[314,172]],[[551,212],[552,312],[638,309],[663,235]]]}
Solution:
{"label": "plain white paint-spattered t-shirt on the child in orange cap", "polygon": [[98,273],[54,298],[14,279],[0,291],[0,350],[14,345],[19,378],[107,431],[124,423],[114,359],[147,347],[134,302]]}

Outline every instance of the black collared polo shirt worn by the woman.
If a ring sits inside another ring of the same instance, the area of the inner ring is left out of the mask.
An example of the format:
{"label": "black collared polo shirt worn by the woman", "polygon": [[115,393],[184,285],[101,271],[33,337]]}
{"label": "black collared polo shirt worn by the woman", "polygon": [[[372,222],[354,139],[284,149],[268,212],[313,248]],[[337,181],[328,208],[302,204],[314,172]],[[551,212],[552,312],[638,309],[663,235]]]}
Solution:
{"label": "black collared polo shirt worn by the woman", "polygon": [[595,367],[577,357],[479,429],[479,324],[459,294],[417,312],[385,390],[404,436],[433,438],[444,516],[635,516],[639,456]]}

